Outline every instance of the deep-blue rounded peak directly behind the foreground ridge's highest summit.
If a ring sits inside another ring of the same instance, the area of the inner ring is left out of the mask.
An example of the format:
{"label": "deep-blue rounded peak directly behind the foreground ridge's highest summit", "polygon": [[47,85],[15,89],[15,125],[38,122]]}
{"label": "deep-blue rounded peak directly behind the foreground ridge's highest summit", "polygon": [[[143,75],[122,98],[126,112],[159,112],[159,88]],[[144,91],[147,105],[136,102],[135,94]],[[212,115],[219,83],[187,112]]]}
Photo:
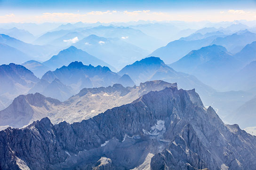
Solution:
{"label": "deep-blue rounded peak directly behind the foreground ridge's highest summit", "polygon": [[196,77],[190,74],[176,72],[158,57],[148,57],[136,61],[121,69],[118,74],[128,74],[135,84],[151,80],[177,82],[182,89],[196,89],[203,98],[215,92],[214,89],[203,84]]}

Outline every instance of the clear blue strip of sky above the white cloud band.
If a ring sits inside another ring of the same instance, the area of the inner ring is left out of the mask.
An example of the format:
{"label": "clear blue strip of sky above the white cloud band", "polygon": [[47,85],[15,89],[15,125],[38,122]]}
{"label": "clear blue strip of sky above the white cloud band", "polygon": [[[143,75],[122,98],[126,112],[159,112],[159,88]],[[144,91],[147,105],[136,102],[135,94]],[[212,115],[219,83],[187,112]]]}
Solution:
{"label": "clear blue strip of sky above the white cloud band", "polygon": [[255,8],[256,0],[0,0],[1,9],[179,9]]}

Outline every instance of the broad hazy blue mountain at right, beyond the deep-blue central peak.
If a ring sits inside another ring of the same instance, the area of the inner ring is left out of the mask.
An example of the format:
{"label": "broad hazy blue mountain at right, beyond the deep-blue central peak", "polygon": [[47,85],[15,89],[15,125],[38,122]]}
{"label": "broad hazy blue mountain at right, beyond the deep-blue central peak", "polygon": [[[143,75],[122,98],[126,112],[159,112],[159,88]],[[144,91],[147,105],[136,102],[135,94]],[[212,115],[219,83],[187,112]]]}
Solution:
{"label": "broad hazy blue mountain at right, beyond the deep-blue central peak", "polygon": [[216,88],[219,87],[220,81],[233,74],[239,65],[225,47],[210,45],[193,50],[169,66],[177,71],[195,75],[200,81]]}

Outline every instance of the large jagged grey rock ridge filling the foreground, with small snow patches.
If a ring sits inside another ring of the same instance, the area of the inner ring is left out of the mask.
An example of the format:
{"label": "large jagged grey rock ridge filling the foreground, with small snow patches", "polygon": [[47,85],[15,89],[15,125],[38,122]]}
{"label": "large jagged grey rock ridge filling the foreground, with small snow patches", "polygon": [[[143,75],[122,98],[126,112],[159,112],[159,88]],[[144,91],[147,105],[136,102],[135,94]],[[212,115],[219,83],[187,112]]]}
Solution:
{"label": "large jagged grey rock ridge filling the foreground, with small snow patches", "polygon": [[[15,140],[14,140],[15,138]],[[256,137],[224,125],[194,90],[165,88],[80,123],[0,131],[0,169],[251,170]]]}

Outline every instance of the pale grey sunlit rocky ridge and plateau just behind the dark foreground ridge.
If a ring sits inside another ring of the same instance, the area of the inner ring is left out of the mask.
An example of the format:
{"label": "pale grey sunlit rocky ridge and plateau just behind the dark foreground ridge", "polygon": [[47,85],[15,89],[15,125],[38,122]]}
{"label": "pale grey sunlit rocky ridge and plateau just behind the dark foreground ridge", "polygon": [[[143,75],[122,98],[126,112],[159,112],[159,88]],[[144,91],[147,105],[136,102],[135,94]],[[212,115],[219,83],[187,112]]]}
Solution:
{"label": "pale grey sunlit rocky ridge and plateau just behind the dark foreground ridge", "polygon": [[[53,83],[60,84],[58,80],[54,80],[52,83],[40,80],[37,86],[29,91],[36,93],[16,97],[6,109],[0,111],[1,129],[7,126],[21,128],[43,117],[49,117],[54,123],[62,121],[80,122],[113,107],[131,103],[152,90],[160,91],[166,87],[177,87],[176,83],[165,81],[146,81],[134,87],[114,84],[106,88],[81,89],[77,95],[60,102],[40,94],[47,94],[48,96],[56,94],[54,97],[59,98],[63,96],[63,93],[69,92],[67,87],[56,89],[56,85]],[[60,92],[58,93],[58,91]]]}

